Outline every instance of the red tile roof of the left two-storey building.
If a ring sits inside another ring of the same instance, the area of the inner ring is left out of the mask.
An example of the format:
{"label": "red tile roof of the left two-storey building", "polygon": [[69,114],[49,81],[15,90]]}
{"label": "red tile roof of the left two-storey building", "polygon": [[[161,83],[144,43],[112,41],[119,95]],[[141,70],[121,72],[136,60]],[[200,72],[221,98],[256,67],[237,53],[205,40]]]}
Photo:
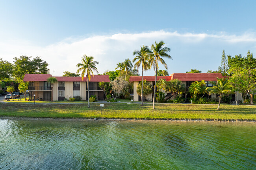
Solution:
{"label": "red tile roof of the left two-storey building", "polygon": [[[23,81],[47,81],[49,77],[52,77],[51,74],[26,74],[24,76]],[[66,82],[74,82],[74,81],[80,81],[80,82],[87,82],[87,77],[84,77],[82,80],[82,77],[57,77],[55,76],[57,81],[66,81]],[[108,75],[94,75],[91,76],[91,80],[89,82],[109,82],[109,76]]]}

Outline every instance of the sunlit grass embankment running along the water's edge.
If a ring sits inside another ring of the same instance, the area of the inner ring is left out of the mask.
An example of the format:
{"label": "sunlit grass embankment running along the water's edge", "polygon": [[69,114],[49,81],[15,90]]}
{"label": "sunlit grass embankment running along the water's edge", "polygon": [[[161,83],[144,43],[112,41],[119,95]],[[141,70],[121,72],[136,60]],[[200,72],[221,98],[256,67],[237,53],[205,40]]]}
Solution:
{"label": "sunlit grass embankment running along the water's edge", "polygon": [[[41,118],[117,118],[117,119],[201,119],[225,121],[256,121],[256,106],[204,104],[125,104],[125,103],[0,103],[0,116]],[[100,111],[102,109],[102,114]]]}

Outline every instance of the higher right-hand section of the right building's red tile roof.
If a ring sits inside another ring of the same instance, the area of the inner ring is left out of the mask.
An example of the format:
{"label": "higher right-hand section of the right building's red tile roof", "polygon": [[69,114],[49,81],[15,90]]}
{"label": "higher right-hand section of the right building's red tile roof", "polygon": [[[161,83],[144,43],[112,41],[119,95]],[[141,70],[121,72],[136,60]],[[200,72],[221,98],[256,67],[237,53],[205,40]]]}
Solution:
{"label": "higher right-hand section of the right building's red tile roof", "polygon": [[218,78],[223,78],[221,73],[173,73],[172,79],[182,81],[216,81]]}

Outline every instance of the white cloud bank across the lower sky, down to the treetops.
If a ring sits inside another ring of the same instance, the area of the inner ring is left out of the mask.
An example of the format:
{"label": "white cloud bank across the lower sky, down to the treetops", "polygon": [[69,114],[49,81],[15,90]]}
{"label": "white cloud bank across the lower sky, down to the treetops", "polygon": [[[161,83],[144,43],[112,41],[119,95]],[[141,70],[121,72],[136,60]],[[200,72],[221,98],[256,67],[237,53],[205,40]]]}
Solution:
{"label": "white cloud bank across the lower sky, down to the treetops", "polygon": [[[0,57],[12,61],[20,55],[41,56],[49,63],[50,73],[61,76],[63,71],[76,72],[76,64],[83,54],[95,57],[100,64],[98,71],[114,70],[117,62],[134,58],[132,52],[144,44],[151,46],[154,41],[163,40],[171,48],[173,60],[165,60],[169,73],[186,72],[197,68],[202,72],[217,69],[221,62],[222,50],[226,54],[245,55],[256,48],[255,33],[228,35],[227,33],[178,33],[152,31],[145,33],[118,33],[114,35],[95,35],[85,38],[68,37],[62,42],[45,47],[36,46],[33,42],[9,40],[0,42]],[[161,67],[160,67],[161,68]],[[163,68],[161,68],[163,69]],[[153,71],[147,75],[154,75]]]}

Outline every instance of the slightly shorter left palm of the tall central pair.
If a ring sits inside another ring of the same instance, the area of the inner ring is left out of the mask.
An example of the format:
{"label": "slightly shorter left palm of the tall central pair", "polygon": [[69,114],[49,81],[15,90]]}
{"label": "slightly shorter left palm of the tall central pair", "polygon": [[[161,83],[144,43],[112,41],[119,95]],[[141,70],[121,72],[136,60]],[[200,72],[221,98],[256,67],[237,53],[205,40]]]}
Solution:
{"label": "slightly shorter left palm of the tall central pair", "polygon": [[[141,66],[141,82],[143,82],[143,68],[145,67],[145,59],[148,58],[149,54],[151,53],[151,51],[148,49],[148,46],[144,46],[141,47],[141,50],[135,50],[133,52],[133,55],[136,55],[135,58],[132,60],[132,62],[135,62],[137,60],[137,62],[134,64],[134,66],[137,66],[137,68],[139,68],[139,66]],[[143,83],[141,86],[141,105],[143,105]]]}

